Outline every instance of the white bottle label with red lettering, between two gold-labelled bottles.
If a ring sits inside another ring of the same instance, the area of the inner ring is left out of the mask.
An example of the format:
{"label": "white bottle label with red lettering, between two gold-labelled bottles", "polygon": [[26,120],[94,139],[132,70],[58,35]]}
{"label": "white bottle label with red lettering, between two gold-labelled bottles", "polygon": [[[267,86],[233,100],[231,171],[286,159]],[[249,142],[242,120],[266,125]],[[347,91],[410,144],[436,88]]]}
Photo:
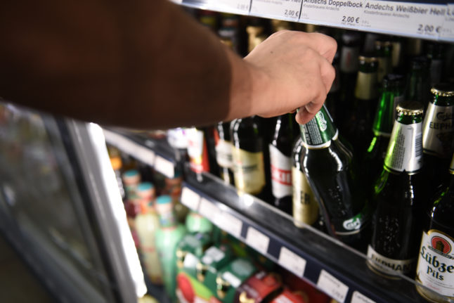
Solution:
{"label": "white bottle label with red lettering, between two gold-labelled bottles", "polygon": [[271,162],[271,189],[275,198],[292,195],[292,159],[273,145],[269,145]]}

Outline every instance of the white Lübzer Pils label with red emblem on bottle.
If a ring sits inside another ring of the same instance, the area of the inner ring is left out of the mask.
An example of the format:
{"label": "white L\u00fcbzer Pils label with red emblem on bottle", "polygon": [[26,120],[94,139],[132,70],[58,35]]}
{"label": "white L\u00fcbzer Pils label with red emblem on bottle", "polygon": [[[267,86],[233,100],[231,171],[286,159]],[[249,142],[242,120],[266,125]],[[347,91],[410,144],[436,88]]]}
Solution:
{"label": "white L\u00fcbzer Pils label with red emblem on bottle", "polygon": [[454,297],[454,240],[432,229],[422,233],[416,278],[441,295]]}

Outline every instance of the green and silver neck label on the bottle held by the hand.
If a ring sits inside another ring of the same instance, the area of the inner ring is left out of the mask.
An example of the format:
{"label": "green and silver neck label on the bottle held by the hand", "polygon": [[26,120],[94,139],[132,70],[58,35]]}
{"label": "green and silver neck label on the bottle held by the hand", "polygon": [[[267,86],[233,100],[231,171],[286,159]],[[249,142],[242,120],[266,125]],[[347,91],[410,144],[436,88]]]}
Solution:
{"label": "green and silver neck label on the bottle held by the hand", "polygon": [[299,126],[303,138],[303,145],[306,148],[318,149],[327,148],[331,140],[337,139],[337,128],[325,108],[325,105],[317,112],[311,121]]}

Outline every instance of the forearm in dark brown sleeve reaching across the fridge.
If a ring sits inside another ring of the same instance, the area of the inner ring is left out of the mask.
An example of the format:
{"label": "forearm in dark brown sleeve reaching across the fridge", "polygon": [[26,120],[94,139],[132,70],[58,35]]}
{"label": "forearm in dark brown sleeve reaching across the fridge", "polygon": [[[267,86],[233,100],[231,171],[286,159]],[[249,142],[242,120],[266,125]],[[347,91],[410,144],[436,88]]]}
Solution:
{"label": "forearm in dark brown sleeve reaching across the fridge", "polygon": [[247,65],[174,4],[62,2],[0,5],[0,96],[138,128],[249,115]]}

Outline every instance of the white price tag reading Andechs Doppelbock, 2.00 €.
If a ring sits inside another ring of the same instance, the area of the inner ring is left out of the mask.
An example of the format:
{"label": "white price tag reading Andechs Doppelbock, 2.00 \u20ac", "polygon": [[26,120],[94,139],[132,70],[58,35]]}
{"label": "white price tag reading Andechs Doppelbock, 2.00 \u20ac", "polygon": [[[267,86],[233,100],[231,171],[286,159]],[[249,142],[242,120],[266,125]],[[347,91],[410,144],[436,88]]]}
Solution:
{"label": "white price tag reading Andechs Doppelbock, 2.00 \u20ac", "polygon": [[302,0],[300,22],[361,27],[367,0]]}

